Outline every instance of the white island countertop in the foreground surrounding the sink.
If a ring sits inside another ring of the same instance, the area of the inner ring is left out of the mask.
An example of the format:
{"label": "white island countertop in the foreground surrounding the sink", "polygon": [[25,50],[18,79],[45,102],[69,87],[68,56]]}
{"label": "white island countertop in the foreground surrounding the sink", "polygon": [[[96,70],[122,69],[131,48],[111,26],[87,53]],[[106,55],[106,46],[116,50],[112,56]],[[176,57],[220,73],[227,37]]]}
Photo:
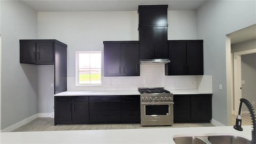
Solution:
{"label": "white island countertop in the foreground surrounding the sink", "polygon": [[251,126],[1,132],[1,144],[175,144],[177,136],[236,135],[251,140]]}

